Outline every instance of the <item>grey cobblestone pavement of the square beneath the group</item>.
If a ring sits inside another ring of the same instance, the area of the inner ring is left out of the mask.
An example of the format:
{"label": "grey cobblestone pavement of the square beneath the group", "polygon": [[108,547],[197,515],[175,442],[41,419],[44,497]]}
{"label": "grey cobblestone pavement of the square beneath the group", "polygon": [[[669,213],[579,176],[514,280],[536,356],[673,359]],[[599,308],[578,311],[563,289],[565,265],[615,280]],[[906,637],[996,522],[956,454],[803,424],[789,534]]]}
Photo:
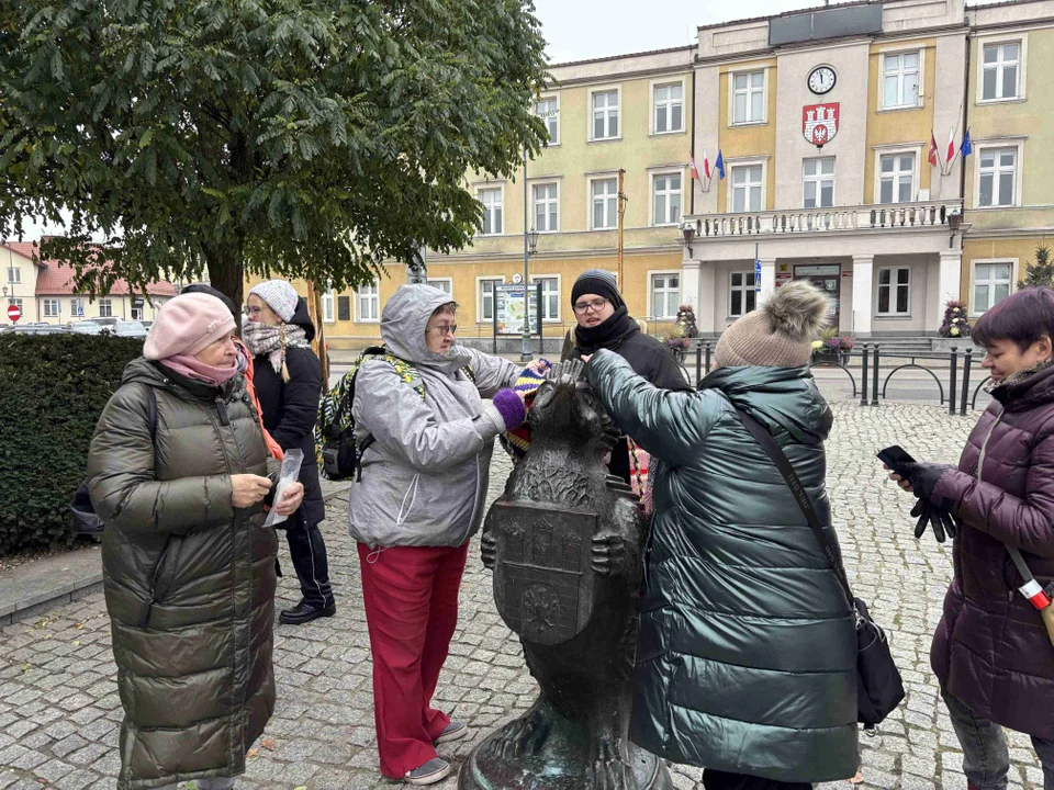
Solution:
{"label": "grey cobblestone pavement of the square beneath the group", "polygon": [[[907,700],[881,734],[862,738],[864,787],[965,789],[962,754],[929,668],[930,634],[951,576],[950,550],[929,537],[913,539],[911,499],[884,481],[874,453],[899,442],[919,456],[952,462],[975,418],[949,417],[937,407],[860,408],[851,403],[838,404],[836,415],[828,484],[846,566],[855,591],[890,633],[908,688]],[[492,497],[508,469],[498,454]],[[344,511],[344,501],[330,500],[324,526],[337,616],[299,628],[276,627],[278,707],[250,752],[239,787],[394,787],[377,770],[369,640]],[[494,609],[491,576],[478,551],[470,557],[460,624],[437,692],[439,706],[473,727],[473,740],[440,747],[440,754],[457,761],[475,738],[535,697],[519,643]],[[289,567],[288,558],[284,565]],[[280,596],[280,606],[295,602],[294,578],[281,580]],[[101,594],[36,622],[0,629],[0,790],[113,788],[121,718]],[[1028,738],[1009,735],[1011,787],[1042,787]],[[702,787],[698,774],[674,767],[676,787]],[[456,780],[438,787],[453,788]],[[821,790],[836,787],[849,785]]]}

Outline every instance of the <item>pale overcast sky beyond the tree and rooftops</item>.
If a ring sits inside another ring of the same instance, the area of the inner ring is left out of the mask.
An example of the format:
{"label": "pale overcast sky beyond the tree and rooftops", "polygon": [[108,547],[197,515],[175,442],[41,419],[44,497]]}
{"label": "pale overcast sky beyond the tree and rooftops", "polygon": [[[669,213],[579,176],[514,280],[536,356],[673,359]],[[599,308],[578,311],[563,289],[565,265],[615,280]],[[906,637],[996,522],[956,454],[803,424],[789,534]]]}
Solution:
{"label": "pale overcast sky beyond the tree and rooftops", "polygon": [[[550,63],[692,44],[698,25],[822,5],[823,0],[535,0]],[[60,233],[26,222],[25,239]]]}

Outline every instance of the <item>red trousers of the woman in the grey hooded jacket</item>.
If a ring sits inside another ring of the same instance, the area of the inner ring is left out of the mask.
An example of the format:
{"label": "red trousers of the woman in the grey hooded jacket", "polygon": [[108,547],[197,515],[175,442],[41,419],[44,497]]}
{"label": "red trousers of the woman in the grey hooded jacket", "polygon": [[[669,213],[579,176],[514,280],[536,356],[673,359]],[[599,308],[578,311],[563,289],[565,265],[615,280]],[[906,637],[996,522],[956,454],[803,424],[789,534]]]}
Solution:
{"label": "red trousers of the woman in the grey hooded jacket", "polygon": [[458,590],[468,544],[359,543],[362,601],[373,654],[373,718],[381,772],[402,779],[436,756],[450,716],[430,707],[458,624]]}

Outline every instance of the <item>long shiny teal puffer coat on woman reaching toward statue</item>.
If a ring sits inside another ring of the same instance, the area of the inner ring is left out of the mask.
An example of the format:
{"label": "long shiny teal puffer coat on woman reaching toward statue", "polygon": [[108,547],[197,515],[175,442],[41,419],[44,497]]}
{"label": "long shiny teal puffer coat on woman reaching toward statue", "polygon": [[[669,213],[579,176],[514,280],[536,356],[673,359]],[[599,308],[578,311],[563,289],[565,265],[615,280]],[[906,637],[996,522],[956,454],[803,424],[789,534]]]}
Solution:
{"label": "long shiny teal puffer coat on woman reaching toward statue", "polygon": [[837,541],[823,482],[832,418],[809,370],[725,368],[679,393],[599,351],[588,375],[655,461],[633,741],[675,763],[787,782],[853,776],[849,603],[731,405],[772,431]]}

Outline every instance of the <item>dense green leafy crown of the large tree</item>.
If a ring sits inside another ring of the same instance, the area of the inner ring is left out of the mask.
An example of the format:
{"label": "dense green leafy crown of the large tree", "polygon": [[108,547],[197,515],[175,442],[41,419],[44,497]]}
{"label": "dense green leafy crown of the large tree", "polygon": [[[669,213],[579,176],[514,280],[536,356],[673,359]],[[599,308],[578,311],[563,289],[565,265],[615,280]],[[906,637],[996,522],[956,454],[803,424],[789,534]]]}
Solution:
{"label": "dense green leafy crown of the large tree", "polygon": [[543,47],[529,0],[0,0],[0,237],[71,213],[90,291],[372,281],[539,150]]}

